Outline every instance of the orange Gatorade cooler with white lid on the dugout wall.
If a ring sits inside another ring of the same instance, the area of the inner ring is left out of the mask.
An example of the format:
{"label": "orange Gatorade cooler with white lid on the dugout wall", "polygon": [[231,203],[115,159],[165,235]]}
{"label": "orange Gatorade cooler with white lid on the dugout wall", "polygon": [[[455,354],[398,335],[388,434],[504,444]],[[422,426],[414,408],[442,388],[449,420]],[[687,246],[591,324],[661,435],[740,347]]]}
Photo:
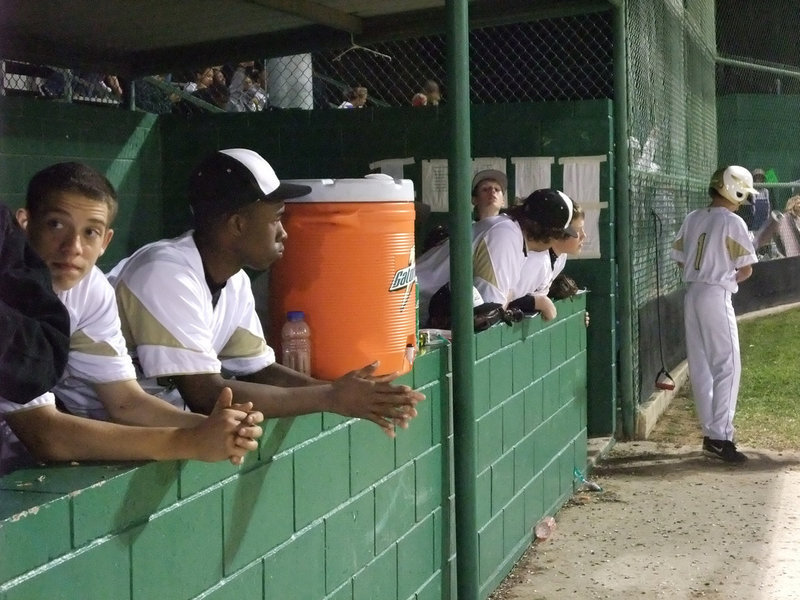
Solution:
{"label": "orange Gatorade cooler with white lid on the dugout wall", "polygon": [[414,186],[389,175],[292,180],[311,194],[286,202],[289,234],[269,284],[269,342],[280,356],[290,310],[311,329],[311,374],[337,377],[380,360],[411,369],[416,340]]}

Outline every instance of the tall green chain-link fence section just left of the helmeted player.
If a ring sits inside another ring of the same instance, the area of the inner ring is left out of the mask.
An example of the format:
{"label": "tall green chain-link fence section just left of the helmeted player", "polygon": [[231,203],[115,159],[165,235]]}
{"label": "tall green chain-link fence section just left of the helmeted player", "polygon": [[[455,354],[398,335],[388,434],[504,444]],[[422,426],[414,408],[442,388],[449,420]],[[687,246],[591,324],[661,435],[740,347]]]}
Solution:
{"label": "tall green chain-link fence section just left of the helmeted player", "polygon": [[[633,371],[646,377],[642,361],[658,360],[656,344],[666,333],[660,297],[681,286],[669,258],[673,236],[690,210],[707,203],[716,168],[714,6],[629,2],[626,17],[632,300],[639,315],[632,323]],[[658,340],[640,339],[648,318],[659,321]],[[640,356],[643,347],[655,356]],[[640,400],[652,391],[641,380],[634,388]]]}

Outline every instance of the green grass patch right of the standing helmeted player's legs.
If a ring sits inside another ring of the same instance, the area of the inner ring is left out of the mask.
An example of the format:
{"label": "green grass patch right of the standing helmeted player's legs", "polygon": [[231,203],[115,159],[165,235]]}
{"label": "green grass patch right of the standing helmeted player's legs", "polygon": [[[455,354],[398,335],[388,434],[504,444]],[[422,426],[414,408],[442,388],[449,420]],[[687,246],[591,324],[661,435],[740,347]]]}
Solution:
{"label": "green grass patch right of the standing helmeted player's legs", "polygon": [[739,323],[737,442],[800,449],[800,309]]}

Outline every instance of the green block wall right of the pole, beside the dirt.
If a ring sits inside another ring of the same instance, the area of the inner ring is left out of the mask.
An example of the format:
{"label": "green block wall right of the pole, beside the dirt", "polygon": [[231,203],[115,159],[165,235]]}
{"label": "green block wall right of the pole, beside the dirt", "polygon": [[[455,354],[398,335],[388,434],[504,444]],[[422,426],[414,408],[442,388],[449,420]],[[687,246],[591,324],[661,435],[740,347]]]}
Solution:
{"label": "green block wall right of the pole, beside the dirt", "polygon": [[528,547],[534,525],[572,495],[574,469],[586,468],[585,299],[558,302],[553,321],[537,316],[475,338],[483,597]]}

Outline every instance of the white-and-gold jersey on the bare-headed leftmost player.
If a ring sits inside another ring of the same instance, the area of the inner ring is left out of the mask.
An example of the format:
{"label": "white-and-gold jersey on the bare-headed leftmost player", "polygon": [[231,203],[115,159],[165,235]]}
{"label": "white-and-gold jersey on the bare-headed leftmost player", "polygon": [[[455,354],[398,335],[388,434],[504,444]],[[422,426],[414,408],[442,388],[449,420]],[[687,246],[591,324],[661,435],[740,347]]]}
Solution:
{"label": "white-and-gold jersey on the bare-headed leftmost player", "polygon": [[120,330],[114,289],[97,267],[58,297],[69,312],[67,367],[53,392],[69,412],[108,420],[93,389],[96,383],[136,379]]}

